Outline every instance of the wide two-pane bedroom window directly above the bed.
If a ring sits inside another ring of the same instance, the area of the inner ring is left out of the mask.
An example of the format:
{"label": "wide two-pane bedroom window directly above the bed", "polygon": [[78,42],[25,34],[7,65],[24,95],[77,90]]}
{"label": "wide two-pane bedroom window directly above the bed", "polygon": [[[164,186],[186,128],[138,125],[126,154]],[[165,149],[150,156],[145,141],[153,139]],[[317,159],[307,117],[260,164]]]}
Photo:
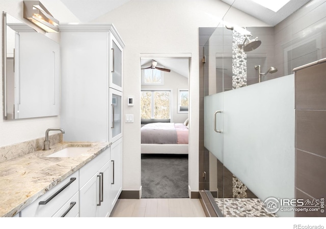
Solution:
{"label": "wide two-pane bedroom window directly above the bed", "polygon": [[142,91],[142,119],[170,119],[171,91]]}

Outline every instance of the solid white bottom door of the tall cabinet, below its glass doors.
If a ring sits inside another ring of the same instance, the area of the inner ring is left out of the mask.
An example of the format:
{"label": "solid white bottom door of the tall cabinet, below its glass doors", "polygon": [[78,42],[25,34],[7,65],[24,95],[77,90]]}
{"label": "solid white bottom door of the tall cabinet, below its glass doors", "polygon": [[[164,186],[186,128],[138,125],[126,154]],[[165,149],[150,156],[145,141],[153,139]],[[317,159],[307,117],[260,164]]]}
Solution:
{"label": "solid white bottom door of the tall cabinet, below its glass doors", "polygon": [[111,164],[110,205],[112,211],[122,190],[122,137],[111,146]]}

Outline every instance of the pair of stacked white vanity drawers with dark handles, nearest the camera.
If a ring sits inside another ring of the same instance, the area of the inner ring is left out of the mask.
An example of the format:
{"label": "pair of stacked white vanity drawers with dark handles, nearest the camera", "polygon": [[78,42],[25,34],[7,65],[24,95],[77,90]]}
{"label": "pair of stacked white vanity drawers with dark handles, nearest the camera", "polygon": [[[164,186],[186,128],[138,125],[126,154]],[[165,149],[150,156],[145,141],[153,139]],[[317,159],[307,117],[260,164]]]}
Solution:
{"label": "pair of stacked white vanity drawers with dark handles, nearest the camera", "polygon": [[79,176],[76,171],[24,208],[20,217],[75,217],[79,212],[78,189]]}

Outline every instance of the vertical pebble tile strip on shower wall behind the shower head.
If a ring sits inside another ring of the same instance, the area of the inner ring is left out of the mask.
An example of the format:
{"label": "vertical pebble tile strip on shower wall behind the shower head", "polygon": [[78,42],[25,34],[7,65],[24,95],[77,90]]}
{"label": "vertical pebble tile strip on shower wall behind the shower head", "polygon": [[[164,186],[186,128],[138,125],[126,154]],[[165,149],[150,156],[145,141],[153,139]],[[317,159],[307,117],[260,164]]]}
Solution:
{"label": "vertical pebble tile strip on shower wall behind the shower head", "polygon": [[244,37],[233,30],[232,39],[232,89],[247,85],[247,54],[239,44],[243,44]]}

